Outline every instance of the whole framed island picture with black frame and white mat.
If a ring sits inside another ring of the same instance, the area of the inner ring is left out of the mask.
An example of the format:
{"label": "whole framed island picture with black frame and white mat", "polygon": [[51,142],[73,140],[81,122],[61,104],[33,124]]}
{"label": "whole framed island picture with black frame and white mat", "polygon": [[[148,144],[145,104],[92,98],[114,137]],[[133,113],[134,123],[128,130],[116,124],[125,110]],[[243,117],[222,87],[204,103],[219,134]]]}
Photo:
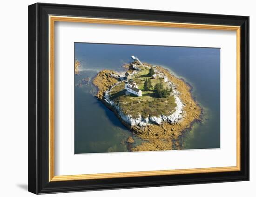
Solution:
{"label": "whole framed island picture with black frame and white mat", "polygon": [[249,17],[28,6],[28,191],[249,180]]}

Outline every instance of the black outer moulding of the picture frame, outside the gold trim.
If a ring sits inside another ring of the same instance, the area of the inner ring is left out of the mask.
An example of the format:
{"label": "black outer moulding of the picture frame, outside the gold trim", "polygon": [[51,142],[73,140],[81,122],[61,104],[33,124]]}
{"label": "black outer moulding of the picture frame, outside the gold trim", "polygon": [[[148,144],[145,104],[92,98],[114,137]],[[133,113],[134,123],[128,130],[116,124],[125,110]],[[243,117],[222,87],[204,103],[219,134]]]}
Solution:
{"label": "black outer moulding of the picture frame, outside the gold trim", "polygon": [[[241,26],[241,171],[48,181],[48,15]],[[28,191],[35,194],[249,180],[249,17],[35,3],[28,6]]]}

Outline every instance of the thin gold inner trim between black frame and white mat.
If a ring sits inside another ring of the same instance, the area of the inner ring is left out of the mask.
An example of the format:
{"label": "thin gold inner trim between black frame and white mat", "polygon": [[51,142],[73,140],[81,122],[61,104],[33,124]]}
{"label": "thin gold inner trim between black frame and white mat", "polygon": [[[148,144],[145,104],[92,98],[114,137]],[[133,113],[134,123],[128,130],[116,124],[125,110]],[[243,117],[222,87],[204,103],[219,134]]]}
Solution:
{"label": "thin gold inner trim between black frame and white mat", "polygon": [[[161,171],[142,171],[142,172],[119,172],[119,173],[101,173],[101,174],[81,174],[54,176],[54,24],[55,22],[74,22],[74,23],[96,23],[96,24],[115,24],[115,25],[141,25],[158,26],[169,28],[193,28],[210,30],[229,30],[236,31],[236,166],[213,167],[181,170],[161,170]],[[142,177],[174,174],[191,174],[202,172],[230,172],[240,170],[240,26],[229,25],[205,25],[191,23],[173,23],[173,22],[155,22],[143,20],[123,20],[123,19],[99,19],[68,16],[49,16],[49,181],[70,181],[84,179],[101,178],[124,178],[124,177]]]}

